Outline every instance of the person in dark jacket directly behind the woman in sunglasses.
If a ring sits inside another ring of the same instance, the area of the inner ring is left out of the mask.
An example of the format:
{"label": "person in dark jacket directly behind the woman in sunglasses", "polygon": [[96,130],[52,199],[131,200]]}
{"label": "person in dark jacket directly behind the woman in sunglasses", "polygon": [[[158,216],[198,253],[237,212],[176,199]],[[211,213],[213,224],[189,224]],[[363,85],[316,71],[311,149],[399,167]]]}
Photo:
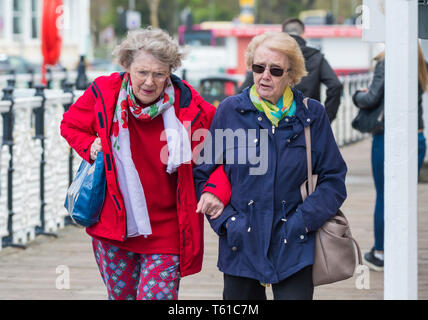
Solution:
{"label": "person in dark jacket directly behind the woman in sunglasses", "polygon": [[[325,110],[327,111],[330,123],[336,118],[340,105],[343,86],[331,68],[324,55],[315,48],[308,47],[302,38],[305,32],[305,25],[297,18],[287,19],[282,24],[282,31],[291,35],[299,44],[305,58],[305,67],[308,72],[295,88],[300,90],[306,97],[320,101],[321,83],[327,87],[327,97],[325,100]],[[240,91],[246,87],[251,87],[254,83],[252,72],[248,72]]]}

